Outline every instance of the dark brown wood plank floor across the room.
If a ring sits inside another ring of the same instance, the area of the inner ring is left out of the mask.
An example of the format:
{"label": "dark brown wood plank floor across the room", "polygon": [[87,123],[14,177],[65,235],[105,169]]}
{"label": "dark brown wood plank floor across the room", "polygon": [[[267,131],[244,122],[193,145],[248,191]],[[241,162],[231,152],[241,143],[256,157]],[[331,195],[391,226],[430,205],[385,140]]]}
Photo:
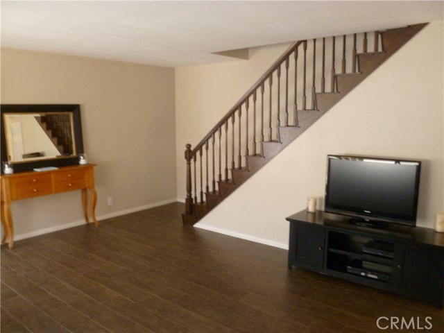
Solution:
{"label": "dark brown wood plank floor across the room", "polygon": [[430,317],[420,332],[444,332],[442,310],[288,271],[286,250],[184,226],[183,211],[175,203],[2,246],[1,332],[384,332],[381,316],[413,317],[416,330]]}

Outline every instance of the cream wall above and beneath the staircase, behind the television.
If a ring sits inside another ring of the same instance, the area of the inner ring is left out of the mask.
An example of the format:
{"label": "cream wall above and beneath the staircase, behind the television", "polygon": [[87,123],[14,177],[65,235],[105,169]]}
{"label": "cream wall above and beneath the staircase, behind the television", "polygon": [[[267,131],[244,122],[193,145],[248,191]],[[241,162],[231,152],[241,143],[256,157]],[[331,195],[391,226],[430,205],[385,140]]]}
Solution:
{"label": "cream wall above and beneath the staircase, behind the television", "polygon": [[[285,217],[304,209],[307,196],[323,197],[329,153],[422,160],[418,225],[432,227],[444,211],[443,28],[436,22],[420,31],[196,227],[286,248]],[[197,144],[285,48],[176,69],[178,198],[185,197],[185,144]],[[272,53],[259,69],[255,62]]]}

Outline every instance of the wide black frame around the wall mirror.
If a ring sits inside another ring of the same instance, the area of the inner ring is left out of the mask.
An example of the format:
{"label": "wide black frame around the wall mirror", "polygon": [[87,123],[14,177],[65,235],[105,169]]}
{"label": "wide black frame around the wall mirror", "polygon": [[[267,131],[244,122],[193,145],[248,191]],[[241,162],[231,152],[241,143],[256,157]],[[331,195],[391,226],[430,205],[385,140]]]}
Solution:
{"label": "wide black frame around the wall mirror", "polygon": [[[0,107],[0,130],[1,130],[1,162],[8,161],[6,151],[6,131],[4,128],[3,114],[9,113],[50,113],[50,112],[72,112],[74,142],[76,146],[76,156],[56,157],[45,160],[33,160],[29,162],[11,162],[14,173],[31,171],[42,167],[66,167],[78,164],[78,155],[83,154],[82,122],[80,119],[80,105],[78,104],[1,104]],[[1,168],[3,173],[3,168]]]}

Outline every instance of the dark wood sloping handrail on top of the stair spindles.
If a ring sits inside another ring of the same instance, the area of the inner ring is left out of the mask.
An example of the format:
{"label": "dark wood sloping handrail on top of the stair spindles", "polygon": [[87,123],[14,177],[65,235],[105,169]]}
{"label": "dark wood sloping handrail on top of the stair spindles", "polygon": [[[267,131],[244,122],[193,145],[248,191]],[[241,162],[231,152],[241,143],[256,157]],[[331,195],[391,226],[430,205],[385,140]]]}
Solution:
{"label": "dark wood sloping handrail on top of the stair spindles", "polygon": [[[232,117],[234,112],[239,110],[241,105],[244,104],[250,98],[250,96],[253,94],[253,92],[255,92],[256,89],[259,89],[259,87],[265,82],[265,80],[271,74],[273,74],[274,71],[277,70],[278,67],[280,67],[280,65],[282,65],[282,63],[291,55],[291,53],[293,53],[298,48],[298,46],[300,44],[302,44],[302,42],[305,42],[305,41],[300,40],[300,41],[293,42],[289,46],[287,51],[285,51],[282,54],[282,56],[280,56],[280,58],[278,58],[278,60],[276,60],[273,63],[273,65],[271,65],[271,67],[256,81],[256,83],[250,89],[248,89],[248,91],[244,94],[244,96],[242,96],[241,99],[239,99],[239,101],[236,104],[234,104],[234,106],[227,112],[227,114],[225,114],[225,116],[219,121],[219,123],[216,123],[216,126],[214,126],[212,128],[212,130],[210,130],[210,132],[207,135],[205,135],[205,137],[203,137],[203,139],[200,140],[200,142],[193,149],[191,149],[191,152],[189,152],[189,154],[187,154],[187,155],[189,155],[189,157],[196,155],[198,153],[198,151],[200,150],[200,148],[202,148],[202,146],[212,137],[212,135],[214,135],[214,133],[216,133],[216,131],[221,126],[223,126],[225,121],[230,119],[230,117]],[[187,144],[187,148],[191,148],[191,146],[188,147],[188,144]]]}

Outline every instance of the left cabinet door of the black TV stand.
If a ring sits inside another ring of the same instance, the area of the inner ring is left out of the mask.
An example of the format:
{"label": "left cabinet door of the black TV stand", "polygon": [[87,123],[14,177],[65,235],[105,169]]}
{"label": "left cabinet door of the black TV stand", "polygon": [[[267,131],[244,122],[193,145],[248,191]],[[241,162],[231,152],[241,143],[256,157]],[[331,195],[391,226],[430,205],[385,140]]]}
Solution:
{"label": "left cabinet door of the black TV stand", "polygon": [[315,271],[323,268],[325,230],[291,223],[289,244],[289,269],[293,264]]}

